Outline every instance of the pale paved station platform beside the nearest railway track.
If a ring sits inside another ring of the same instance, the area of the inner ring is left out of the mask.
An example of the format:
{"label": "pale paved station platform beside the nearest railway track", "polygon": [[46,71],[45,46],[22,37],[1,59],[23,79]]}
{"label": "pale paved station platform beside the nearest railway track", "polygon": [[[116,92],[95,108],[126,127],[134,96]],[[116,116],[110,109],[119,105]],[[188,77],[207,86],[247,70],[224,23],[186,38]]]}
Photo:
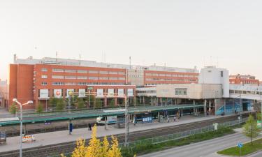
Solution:
{"label": "pale paved station platform beside the nearest railway track", "polygon": [[[152,124],[136,124],[136,126],[133,126],[133,124],[130,124],[129,131],[138,131],[138,130],[146,130],[146,129],[153,129],[153,128],[161,128],[163,126],[173,126],[178,124],[186,124],[194,121],[203,121],[206,119],[214,119],[216,117],[210,116],[210,117],[200,117],[196,118],[193,116],[184,116],[180,119],[178,122],[169,122],[169,123],[152,123]],[[105,130],[104,126],[99,126],[97,135],[98,137],[102,136],[110,136],[115,135],[119,133],[124,133],[124,128],[114,128],[114,125],[108,126],[108,130]],[[57,144],[61,142],[71,142],[78,140],[80,137],[82,138],[90,138],[91,137],[91,131],[88,131],[87,128],[80,128],[73,130],[72,135],[68,135],[68,130],[64,131],[57,131],[57,132],[51,132],[51,133],[40,133],[36,134],[36,141],[32,143],[24,143],[23,148],[31,148],[31,147],[38,147],[43,145],[49,145],[49,144]],[[19,139],[20,137],[8,137],[7,144],[0,146],[0,152],[2,151],[11,151],[15,149],[19,149]]]}

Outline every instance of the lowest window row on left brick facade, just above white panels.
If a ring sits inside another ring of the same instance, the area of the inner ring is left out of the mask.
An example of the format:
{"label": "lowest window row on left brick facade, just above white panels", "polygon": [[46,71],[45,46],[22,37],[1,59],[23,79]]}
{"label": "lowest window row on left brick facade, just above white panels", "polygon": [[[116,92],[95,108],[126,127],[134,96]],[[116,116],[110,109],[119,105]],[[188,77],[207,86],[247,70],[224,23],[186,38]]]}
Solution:
{"label": "lowest window row on left brick facade, just above white panels", "polygon": [[[42,82],[41,85],[47,86],[48,82]],[[63,85],[124,85],[122,83],[115,83],[115,82],[52,82],[53,86],[63,86]]]}

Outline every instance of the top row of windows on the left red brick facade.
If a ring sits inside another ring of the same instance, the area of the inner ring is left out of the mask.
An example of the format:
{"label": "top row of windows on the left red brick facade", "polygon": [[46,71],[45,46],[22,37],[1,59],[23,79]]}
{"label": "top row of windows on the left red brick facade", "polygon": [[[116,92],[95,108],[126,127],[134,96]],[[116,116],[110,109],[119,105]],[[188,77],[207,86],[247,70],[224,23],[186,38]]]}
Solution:
{"label": "top row of windows on the left red brick facade", "polygon": [[[47,68],[42,68],[41,71],[48,71]],[[52,72],[66,72],[66,73],[99,73],[99,74],[115,74],[115,75],[126,75],[122,71],[100,71],[100,70],[73,70],[73,69],[61,69],[61,68],[52,68]]]}

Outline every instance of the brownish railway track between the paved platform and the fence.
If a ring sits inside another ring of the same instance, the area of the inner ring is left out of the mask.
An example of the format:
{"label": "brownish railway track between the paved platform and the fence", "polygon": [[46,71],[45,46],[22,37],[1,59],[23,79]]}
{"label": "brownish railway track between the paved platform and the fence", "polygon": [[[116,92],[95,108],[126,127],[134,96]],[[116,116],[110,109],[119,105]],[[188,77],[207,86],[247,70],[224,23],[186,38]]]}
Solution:
{"label": "brownish railway track between the paved platform and the fence", "polygon": [[[248,117],[249,114],[242,114],[242,117]],[[141,138],[147,138],[147,137],[156,137],[161,135],[168,135],[173,133],[178,133],[184,130],[191,130],[194,128],[201,128],[203,126],[208,126],[213,123],[221,123],[225,121],[233,121],[236,120],[237,116],[233,115],[230,117],[219,117],[217,119],[209,119],[205,121],[196,121],[189,124],[180,124],[176,126],[166,126],[163,128],[154,128],[154,129],[148,129],[148,130],[140,130],[129,133],[129,141],[139,140]],[[124,142],[124,134],[117,134],[115,135],[119,143]],[[99,137],[101,140],[103,137]],[[109,139],[110,140],[110,139]],[[86,140],[86,143],[89,142],[89,139]],[[23,156],[24,157],[31,157],[31,156],[38,156],[38,157],[44,157],[44,156],[56,156],[57,154],[61,153],[68,153],[72,152],[75,147],[75,142],[64,142],[60,144],[52,144],[47,145],[43,147],[34,147],[29,149],[23,149]],[[6,151],[1,152],[0,156],[4,157],[16,157],[19,156],[19,150],[15,151]]]}

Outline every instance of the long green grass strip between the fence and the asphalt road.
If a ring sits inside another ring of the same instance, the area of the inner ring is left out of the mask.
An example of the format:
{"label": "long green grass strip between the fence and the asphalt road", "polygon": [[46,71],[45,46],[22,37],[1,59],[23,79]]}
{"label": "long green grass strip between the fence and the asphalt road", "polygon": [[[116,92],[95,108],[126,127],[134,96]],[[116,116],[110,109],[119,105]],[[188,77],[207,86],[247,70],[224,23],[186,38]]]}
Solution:
{"label": "long green grass strip between the fence and the asphalt road", "polygon": [[222,137],[224,135],[235,133],[232,128],[219,128],[217,131],[210,131],[208,133],[201,133],[196,135],[191,135],[189,137],[184,137],[180,140],[172,140],[168,142],[163,142],[159,144],[139,144],[136,147],[129,149],[122,149],[122,156],[133,157],[135,154],[143,155],[149,154],[156,151],[162,151],[164,149],[170,149],[173,147],[180,147],[187,144],[192,144],[196,142],[201,142],[204,140],[210,140],[216,137]]}

